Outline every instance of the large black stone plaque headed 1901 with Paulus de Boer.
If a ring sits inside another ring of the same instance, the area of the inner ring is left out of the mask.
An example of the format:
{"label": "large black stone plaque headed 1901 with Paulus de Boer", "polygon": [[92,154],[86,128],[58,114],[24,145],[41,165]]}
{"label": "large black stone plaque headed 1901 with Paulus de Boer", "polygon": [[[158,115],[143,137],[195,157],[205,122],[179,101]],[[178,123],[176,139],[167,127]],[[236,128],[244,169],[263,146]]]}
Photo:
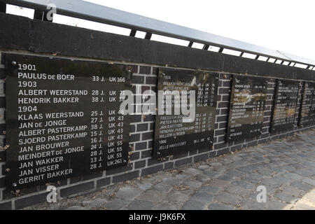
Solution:
{"label": "large black stone plaque headed 1901 with Paulus de Boer", "polygon": [[4,55],[6,187],[127,165],[132,71],[105,62]]}

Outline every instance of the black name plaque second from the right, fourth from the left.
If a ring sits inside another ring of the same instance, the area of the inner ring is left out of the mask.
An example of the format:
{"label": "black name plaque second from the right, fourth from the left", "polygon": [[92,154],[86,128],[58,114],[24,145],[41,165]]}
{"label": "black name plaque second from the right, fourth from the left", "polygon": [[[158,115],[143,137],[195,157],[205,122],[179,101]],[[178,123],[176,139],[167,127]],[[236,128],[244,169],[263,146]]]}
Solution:
{"label": "black name plaque second from the right, fourth from the left", "polygon": [[276,80],[270,132],[292,130],[295,127],[299,87],[300,82],[294,80]]}

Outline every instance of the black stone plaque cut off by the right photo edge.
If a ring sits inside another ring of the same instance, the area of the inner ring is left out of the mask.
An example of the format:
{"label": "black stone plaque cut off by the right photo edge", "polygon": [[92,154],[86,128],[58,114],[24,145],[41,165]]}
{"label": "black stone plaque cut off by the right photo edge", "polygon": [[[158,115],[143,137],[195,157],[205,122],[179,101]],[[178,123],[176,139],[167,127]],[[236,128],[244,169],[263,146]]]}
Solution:
{"label": "black stone plaque cut off by the right photo edge", "polygon": [[303,85],[302,104],[300,108],[299,126],[315,123],[315,83],[305,82]]}

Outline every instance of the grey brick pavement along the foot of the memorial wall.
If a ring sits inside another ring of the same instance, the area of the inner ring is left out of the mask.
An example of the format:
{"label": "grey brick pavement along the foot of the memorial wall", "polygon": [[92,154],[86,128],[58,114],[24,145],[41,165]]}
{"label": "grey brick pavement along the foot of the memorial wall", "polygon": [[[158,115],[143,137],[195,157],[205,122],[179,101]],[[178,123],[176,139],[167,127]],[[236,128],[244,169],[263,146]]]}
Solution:
{"label": "grey brick pavement along the foot of the memorial wall", "polygon": [[315,209],[315,131],[25,209]]}

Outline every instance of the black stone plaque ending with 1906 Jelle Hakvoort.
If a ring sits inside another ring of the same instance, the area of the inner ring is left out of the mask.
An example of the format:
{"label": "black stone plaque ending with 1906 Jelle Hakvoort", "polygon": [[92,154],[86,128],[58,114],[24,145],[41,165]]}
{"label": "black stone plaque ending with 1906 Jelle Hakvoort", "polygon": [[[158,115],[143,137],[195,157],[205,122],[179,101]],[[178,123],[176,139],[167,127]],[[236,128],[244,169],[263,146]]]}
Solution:
{"label": "black stone plaque ending with 1906 Jelle Hakvoort", "polygon": [[[167,104],[165,100],[165,114],[162,115],[161,111],[158,111],[156,116],[153,157],[165,158],[204,148],[210,150],[214,141],[218,74],[178,69],[158,70],[158,90],[166,95],[176,90],[195,91],[195,119],[191,120],[182,113],[175,115],[179,102],[173,98],[172,104]],[[165,97],[160,93],[158,102],[161,97]],[[190,97],[186,97],[188,98]],[[186,104],[193,109],[190,100],[187,100]],[[185,105],[184,100],[182,105]],[[172,115],[167,115],[167,107],[172,108]]]}

